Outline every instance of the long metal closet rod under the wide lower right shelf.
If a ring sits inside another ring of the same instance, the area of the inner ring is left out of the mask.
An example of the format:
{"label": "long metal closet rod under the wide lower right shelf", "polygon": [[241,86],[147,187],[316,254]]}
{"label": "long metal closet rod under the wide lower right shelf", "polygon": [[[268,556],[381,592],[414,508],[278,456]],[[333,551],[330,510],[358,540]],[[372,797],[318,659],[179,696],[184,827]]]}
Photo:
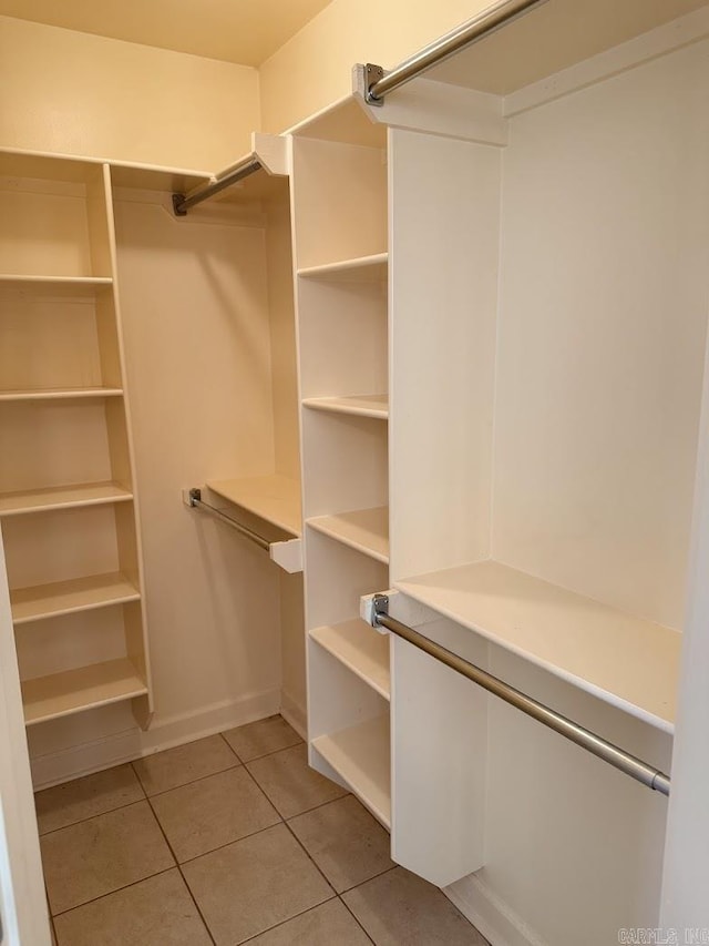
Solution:
{"label": "long metal closet rod under the wide lower right shelf", "polygon": [[515,690],[514,686],[511,686],[497,677],[493,677],[492,673],[487,673],[486,670],[482,670],[474,663],[463,660],[462,657],[446,650],[408,624],[402,624],[395,618],[390,618],[389,598],[386,594],[376,594],[372,603],[372,624],[374,627],[381,625],[382,628],[387,628],[388,631],[409,641],[409,643],[418,647],[420,650],[435,658],[435,660],[440,660],[441,663],[450,667],[451,670],[462,673],[463,677],[477,683],[479,686],[487,690],[487,692],[494,693],[495,696],[504,700],[505,703],[510,703],[510,705],[526,713],[527,716],[532,716],[537,722],[575,742],[576,745],[580,745],[582,749],[585,749],[593,755],[597,755],[598,759],[603,759],[604,762],[607,762],[615,769],[619,769],[620,772],[625,772],[626,775],[641,782],[648,789],[661,792],[662,795],[669,795],[669,775],[660,772],[659,769],[655,769],[641,759],[630,755],[629,752],[596,735],[596,733],[575,723],[567,716],[563,716],[555,710],[545,706],[544,703],[538,703],[521,690]]}

